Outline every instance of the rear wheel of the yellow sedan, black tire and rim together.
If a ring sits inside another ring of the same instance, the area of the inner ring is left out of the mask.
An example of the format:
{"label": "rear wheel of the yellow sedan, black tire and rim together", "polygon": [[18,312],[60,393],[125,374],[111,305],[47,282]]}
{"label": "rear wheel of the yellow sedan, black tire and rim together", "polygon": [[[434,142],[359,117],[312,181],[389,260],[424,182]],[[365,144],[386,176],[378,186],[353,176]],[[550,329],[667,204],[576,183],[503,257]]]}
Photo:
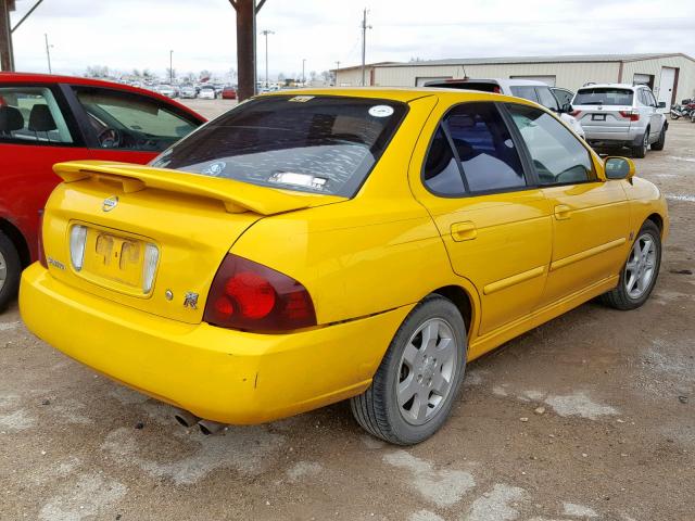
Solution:
{"label": "rear wheel of the yellow sedan, black tire and rim together", "polygon": [[371,386],[350,401],[367,432],[414,445],[446,421],[459,394],[467,354],[466,325],[447,298],[431,295],[408,314]]}

